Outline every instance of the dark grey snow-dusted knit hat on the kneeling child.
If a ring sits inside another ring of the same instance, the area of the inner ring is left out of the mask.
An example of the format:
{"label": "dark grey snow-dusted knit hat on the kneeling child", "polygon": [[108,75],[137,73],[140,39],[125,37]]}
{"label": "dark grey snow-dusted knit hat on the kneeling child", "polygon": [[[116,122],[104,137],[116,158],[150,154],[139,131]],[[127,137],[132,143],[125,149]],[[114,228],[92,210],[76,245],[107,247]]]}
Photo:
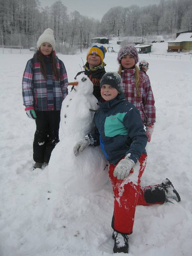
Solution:
{"label": "dark grey snow-dusted knit hat on the kneeling child", "polygon": [[122,79],[116,72],[107,72],[102,77],[100,82],[100,89],[103,84],[108,84],[117,89],[118,92],[123,92]]}

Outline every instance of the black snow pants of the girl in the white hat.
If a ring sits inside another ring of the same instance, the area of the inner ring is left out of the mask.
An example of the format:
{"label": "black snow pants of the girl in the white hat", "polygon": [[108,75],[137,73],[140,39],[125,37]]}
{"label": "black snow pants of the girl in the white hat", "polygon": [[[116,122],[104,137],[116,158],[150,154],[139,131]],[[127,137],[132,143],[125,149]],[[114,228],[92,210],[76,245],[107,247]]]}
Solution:
{"label": "black snow pants of the girl in the white hat", "polygon": [[51,152],[59,142],[60,110],[36,111],[36,116],[33,159],[37,163],[49,163]]}

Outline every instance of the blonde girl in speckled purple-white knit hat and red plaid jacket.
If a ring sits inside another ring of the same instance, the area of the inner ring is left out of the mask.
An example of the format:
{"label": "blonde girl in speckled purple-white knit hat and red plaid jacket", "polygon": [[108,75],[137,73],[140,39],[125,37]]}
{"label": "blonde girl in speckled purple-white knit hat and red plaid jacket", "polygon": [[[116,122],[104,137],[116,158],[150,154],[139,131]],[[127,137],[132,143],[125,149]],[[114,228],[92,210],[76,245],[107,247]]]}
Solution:
{"label": "blonde girl in speckled purple-white knit hat and red plaid jacket", "polygon": [[139,109],[150,142],[156,122],[155,100],[149,77],[136,66],[138,60],[138,52],[134,46],[121,48],[117,56],[120,64],[118,74],[123,81],[125,99]]}

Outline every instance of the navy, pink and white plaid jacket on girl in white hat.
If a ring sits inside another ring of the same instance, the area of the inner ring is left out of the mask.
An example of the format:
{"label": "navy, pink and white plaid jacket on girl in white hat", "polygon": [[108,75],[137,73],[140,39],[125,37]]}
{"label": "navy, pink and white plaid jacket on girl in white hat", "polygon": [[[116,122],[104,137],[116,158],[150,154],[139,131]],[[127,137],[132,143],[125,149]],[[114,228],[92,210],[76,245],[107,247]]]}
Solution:
{"label": "navy, pink and white plaid jacket on girl in white hat", "polygon": [[34,107],[37,111],[60,110],[62,101],[68,94],[68,78],[65,66],[55,56],[60,79],[48,76],[46,80],[41,73],[40,63],[35,55],[28,60],[22,81],[23,105],[26,108]]}

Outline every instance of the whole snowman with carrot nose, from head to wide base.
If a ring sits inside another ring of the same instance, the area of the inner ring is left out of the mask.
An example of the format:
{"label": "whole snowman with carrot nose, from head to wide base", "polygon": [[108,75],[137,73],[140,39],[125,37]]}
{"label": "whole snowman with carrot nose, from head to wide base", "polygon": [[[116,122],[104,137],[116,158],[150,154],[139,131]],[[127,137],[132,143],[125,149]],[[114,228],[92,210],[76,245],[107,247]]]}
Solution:
{"label": "whole snowman with carrot nose, from head to wide base", "polygon": [[52,151],[48,175],[52,188],[84,195],[101,190],[108,181],[107,161],[100,147],[87,147],[81,155],[74,156],[76,142],[94,129],[98,100],[92,94],[93,84],[86,75],[80,74],[69,85],[74,85],[74,89],[62,103],[60,127],[63,133]]}

